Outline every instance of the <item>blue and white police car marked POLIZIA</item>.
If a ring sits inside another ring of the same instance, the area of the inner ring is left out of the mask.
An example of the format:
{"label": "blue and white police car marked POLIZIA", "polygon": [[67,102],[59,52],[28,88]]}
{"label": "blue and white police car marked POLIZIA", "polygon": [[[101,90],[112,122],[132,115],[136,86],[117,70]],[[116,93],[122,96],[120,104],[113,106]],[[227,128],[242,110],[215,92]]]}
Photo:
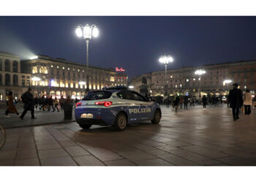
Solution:
{"label": "blue and white police car marked POLIZIA", "polygon": [[75,108],[76,122],[83,129],[97,124],[111,125],[120,131],[133,122],[151,120],[153,124],[158,124],[161,116],[157,103],[127,87],[106,87],[100,91],[91,91]]}

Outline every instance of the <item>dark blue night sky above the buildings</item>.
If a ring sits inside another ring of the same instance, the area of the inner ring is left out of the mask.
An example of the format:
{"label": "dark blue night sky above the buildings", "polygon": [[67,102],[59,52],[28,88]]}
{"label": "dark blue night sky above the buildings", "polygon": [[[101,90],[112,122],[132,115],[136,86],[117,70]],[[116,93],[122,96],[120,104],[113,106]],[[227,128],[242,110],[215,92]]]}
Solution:
{"label": "dark blue night sky above the buildings", "polygon": [[168,68],[256,59],[256,17],[0,17],[0,51],[26,59],[42,54],[86,63],[77,25],[95,24],[89,63],[123,67],[131,78]]}

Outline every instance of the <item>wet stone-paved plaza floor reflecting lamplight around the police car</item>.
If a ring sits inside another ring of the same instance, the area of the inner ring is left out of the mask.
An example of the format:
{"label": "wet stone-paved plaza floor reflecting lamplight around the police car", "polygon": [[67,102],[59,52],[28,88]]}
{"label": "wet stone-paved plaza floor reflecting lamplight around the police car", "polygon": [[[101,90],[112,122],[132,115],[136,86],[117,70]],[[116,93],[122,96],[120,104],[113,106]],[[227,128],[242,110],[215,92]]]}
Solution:
{"label": "wet stone-paved plaza floor reflecting lamplight around the police car", "polygon": [[[63,119],[61,112],[52,116]],[[178,113],[162,106],[160,124],[129,124],[124,132],[81,130],[75,122],[7,129],[0,165],[256,165],[255,108],[240,117],[233,122],[225,105]]]}

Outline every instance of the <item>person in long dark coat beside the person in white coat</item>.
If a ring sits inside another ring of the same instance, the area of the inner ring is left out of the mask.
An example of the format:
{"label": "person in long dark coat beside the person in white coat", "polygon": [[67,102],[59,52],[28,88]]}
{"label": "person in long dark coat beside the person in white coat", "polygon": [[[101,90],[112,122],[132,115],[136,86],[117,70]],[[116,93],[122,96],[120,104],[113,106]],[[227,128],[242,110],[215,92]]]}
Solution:
{"label": "person in long dark coat beside the person in white coat", "polygon": [[238,89],[238,84],[233,84],[233,89],[230,90],[228,95],[228,102],[230,104],[230,108],[232,108],[233,119],[235,122],[236,119],[239,119],[239,108],[243,106],[242,91]]}

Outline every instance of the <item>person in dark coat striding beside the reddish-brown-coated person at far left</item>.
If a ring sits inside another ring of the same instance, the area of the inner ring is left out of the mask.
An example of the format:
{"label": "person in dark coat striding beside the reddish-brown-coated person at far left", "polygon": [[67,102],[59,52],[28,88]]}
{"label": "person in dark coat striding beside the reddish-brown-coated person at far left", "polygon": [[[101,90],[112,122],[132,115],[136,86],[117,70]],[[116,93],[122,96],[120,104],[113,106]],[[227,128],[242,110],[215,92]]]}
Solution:
{"label": "person in dark coat striding beside the reddish-brown-coated person at far left", "polygon": [[23,117],[25,116],[27,111],[31,111],[31,119],[37,119],[34,117],[34,98],[32,95],[32,89],[29,88],[27,92],[24,93],[24,96],[26,100],[23,100],[24,104],[24,111],[20,116],[20,119],[24,119]]}

